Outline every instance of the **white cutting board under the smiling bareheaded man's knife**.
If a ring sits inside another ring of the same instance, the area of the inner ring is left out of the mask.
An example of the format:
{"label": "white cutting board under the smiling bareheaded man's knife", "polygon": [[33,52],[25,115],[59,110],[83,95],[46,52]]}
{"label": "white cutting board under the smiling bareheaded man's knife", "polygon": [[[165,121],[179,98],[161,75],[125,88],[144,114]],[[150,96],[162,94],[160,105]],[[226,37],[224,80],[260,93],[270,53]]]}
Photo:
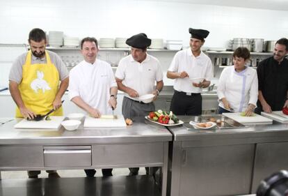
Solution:
{"label": "white cutting board under the smiling bareheaded man's knife", "polygon": [[122,115],[117,115],[117,119],[95,119],[86,116],[84,127],[126,127],[125,119]]}

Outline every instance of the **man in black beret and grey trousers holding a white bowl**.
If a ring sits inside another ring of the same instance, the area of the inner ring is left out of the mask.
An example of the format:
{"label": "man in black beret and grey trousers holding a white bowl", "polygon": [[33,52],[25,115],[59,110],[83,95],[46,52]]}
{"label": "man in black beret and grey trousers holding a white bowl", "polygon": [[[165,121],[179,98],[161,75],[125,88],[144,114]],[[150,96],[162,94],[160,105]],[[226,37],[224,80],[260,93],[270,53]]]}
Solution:
{"label": "man in black beret and grey trousers holding a white bowl", "polygon": [[[163,73],[158,59],[147,54],[151,40],[145,33],[131,36],[126,43],[131,46],[131,54],[120,60],[115,73],[118,89],[125,92],[122,114],[125,119],[144,121],[144,117],[155,110],[155,105],[143,103],[138,97],[152,93],[155,100],[163,88]],[[130,175],[138,174],[139,168],[129,169]]]}

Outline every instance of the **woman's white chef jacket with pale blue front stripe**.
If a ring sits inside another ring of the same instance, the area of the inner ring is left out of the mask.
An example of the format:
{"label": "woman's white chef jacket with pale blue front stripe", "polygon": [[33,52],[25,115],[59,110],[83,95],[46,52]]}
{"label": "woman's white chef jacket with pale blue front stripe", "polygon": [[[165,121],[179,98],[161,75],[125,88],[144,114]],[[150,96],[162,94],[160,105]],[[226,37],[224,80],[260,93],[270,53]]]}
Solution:
{"label": "woman's white chef jacket with pale blue front stripe", "polygon": [[[246,67],[237,73],[234,66],[225,68],[218,82],[217,94],[219,100],[226,98],[235,112],[245,111],[249,103],[256,105],[258,100],[257,71]],[[224,108],[221,101],[219,101],[219,106]]]}

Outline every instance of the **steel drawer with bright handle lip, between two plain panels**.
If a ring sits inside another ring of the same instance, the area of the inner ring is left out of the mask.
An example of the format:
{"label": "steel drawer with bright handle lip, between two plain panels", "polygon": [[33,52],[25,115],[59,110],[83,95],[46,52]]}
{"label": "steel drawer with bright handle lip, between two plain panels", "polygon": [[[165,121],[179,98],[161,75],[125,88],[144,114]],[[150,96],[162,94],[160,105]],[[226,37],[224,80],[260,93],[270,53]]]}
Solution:
{"label": "steel drawer with bright handle lip, between two plain panels", "polygon": [[91,166],[91,146],[44,146],[45,167]]}

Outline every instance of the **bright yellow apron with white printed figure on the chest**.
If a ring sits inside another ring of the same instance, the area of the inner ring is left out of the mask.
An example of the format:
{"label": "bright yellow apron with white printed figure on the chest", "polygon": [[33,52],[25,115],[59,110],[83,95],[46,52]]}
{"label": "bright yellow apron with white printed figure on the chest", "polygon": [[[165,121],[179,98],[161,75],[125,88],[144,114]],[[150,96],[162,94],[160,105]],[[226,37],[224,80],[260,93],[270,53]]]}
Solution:
{"label": "bright yellow apron with white printed figure on the chest", "polygon": [[[46,114],[53,109],[53,101],[59,89],[59,73],[51,63],[50,56],[45,51],[47,63],[36,63],[31,65],[31,50],[26,56],[24,66],[22,66],[22,82],[18,88],[25,106],[34,114]],[[53,116],[62,116],[63,110],[60,107]],[[16,117],[23,117],[16,109]]]}

